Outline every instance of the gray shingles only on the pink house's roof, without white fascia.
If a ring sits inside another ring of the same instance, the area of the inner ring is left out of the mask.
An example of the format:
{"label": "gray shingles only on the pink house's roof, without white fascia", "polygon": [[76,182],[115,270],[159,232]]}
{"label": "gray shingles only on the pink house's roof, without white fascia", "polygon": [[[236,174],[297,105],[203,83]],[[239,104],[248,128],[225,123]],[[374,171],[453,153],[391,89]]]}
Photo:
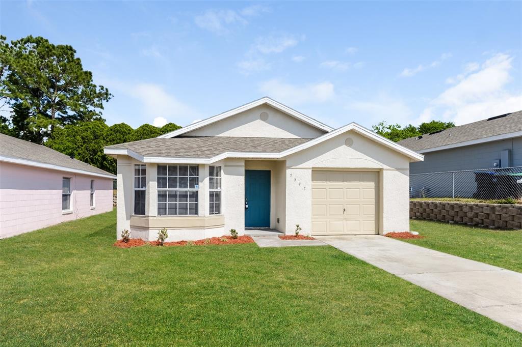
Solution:
{"label": "gray shingles only on the pink house's roof, without white fascia", "polygon": [[72,159],[68,155],[56,152],[49,147],[20,140],[6,134],[0,134],[0,155],[32,160],[33,162],[43,164],[63,166],[69,169],[84,170],[92,173],[99,173],[101,175],[114,176],[112,173],[81,162],[80,160]]}

